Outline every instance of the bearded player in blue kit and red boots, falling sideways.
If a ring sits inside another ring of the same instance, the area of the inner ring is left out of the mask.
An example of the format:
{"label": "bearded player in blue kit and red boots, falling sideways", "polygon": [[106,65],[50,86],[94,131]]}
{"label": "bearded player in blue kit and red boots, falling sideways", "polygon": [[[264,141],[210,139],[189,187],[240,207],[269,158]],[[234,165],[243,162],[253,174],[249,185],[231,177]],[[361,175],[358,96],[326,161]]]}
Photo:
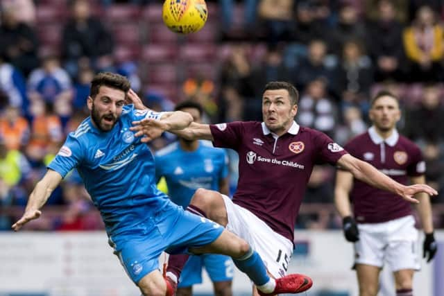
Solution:
{"label": "bearded player in blue kit and red boots, falling sideways", "polygon": [[158,270],[158,257],[165,250],[172,254],[227,254],[262,292],[296,291],[299,275],[271,279],[262,259],[246,241],[221,225],[184,211],[157,189],[153,155],[130,131],[131,124],[140,119],[152,121],[146,132],[149,140],[165,130],[186,128],[192,118],[180,111],[157,113],[125,106],[135,101],[140,99],[125,77],[114,73],[94,76],[87,98],[90,116],[69,134],[12,229],[18,231],[39,218],[52,191],[77,168],[101,213],[114,253],[143,295],[174,293]]}

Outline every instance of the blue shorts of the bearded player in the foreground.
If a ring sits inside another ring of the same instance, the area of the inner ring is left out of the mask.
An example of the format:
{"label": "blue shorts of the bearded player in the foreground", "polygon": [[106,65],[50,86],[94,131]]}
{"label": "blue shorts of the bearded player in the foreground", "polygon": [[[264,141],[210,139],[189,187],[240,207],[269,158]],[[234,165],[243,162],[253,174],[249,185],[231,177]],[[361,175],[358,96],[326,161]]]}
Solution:
{"label": "blue shorts of the bearded player in the foreground", "polygon": [[128,277],[137,284],[142,277],[159,268],[163,251],[185,253],[188,247],[202,247],[218,238],[223,227],[211,220],[169,204],[132,229],[110,237],[114,254]]}

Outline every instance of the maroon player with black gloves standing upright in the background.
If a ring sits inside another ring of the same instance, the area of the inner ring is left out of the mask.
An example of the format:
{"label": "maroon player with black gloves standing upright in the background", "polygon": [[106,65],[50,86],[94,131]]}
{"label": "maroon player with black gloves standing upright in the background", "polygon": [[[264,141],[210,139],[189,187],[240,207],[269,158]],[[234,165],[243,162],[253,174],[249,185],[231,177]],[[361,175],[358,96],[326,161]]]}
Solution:
{"label": "maroon player with black gloves standing upright in the background", "polygon": [[[373,126],[352,139],[345,149],[401,184],[425,183],[425,162],[418,146],[396,130],[400,120],[398,99],[388,92],[373,98],[369,112]],[[353,203],[353,214],[350,200]],[[421,192],[418,213],[425,231],[423,256],[436,253],[429,195]],[[355,243],[355,268],[360,296],[376,296],[379,272],[385,263],[395,276],[396,295],[412,296],[413,272],[420,268],[416,254],[418,231],[411,205],[398,195],[376,189],[347,171],[336,175],[335,203],[343,218],[347,241]]]}

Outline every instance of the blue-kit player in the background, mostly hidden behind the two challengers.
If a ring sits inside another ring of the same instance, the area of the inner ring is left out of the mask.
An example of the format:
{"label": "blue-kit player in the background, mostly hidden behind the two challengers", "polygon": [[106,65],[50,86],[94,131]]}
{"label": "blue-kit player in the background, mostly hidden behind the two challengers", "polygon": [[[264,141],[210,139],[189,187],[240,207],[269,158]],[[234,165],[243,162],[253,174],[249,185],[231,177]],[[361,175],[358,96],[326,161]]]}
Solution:
{"label": "blue-kit player in the background, mostly hidden behind the two challengers", "polygon": [[[175,110],[188,112],[194,122],[200,123],[203,110],[198,103],[183,101],[176,105]],[[155,174],[157,182],[160,177],[165,178],[169,198],[184,209],[199,188],[229,194],[227,154],[221,148],[214,148],[210,141],[179,138],[179,141],[157,151]],[[177,295],[192,295],[192,286],[202,283],[203,266],[213,281],[214,295],[232,295],[234,266],[230,257],[219,254],[190,256],[180,275]]]}

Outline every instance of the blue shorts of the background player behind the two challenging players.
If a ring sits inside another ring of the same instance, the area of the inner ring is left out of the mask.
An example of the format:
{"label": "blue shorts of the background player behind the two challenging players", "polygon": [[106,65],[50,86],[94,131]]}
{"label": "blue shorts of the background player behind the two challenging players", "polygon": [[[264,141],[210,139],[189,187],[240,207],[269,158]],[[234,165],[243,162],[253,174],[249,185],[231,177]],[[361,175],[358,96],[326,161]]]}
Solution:
{"label": "blue shorts of the background player behind the two challenging players", "polygon": [[214,281],[231,281],[234,264],[229,256],[219,254],[203,254],[189,256],[187,264],[180,274],[178,288],[191,287],[202,283],[202,268],[205,266],[210,279]]}

